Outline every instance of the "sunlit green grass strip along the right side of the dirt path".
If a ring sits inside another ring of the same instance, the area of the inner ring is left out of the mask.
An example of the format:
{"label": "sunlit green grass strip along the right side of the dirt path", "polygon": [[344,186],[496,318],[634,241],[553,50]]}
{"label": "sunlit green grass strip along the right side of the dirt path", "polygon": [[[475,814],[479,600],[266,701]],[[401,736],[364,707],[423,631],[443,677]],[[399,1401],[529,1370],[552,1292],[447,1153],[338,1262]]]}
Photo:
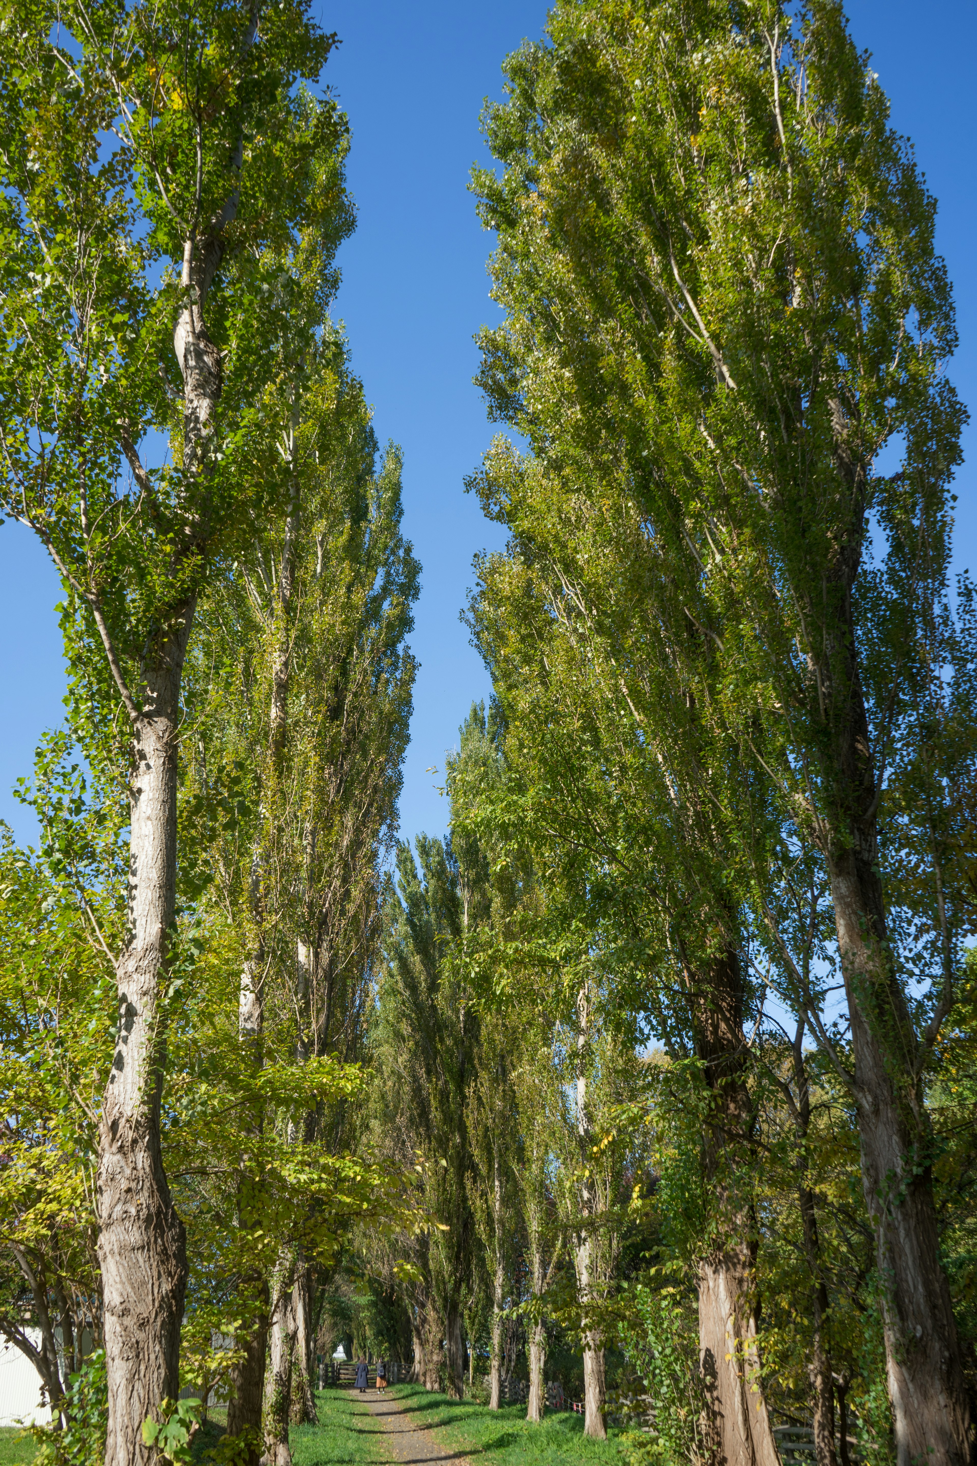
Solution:
{"label": "sunlit green grass strip along the right side of the dirt path", "polygon": [[621,1431],[608,1431],[606,1441],[590,1441],[583,1434],[583,1416],[554,1410],[540,1425],[530,1425],[524,1404],[504,1404],[489,1410],[472,1400],[450,1400],[428,1394],[419,1384],[398,1384],[388,1391],[401,1400],[413,1422],[426,1426],[434,1438],[456,1451],[466,1451],[472,1462],[486,1466],[562,1466],[568,1462],[623,1462]]}

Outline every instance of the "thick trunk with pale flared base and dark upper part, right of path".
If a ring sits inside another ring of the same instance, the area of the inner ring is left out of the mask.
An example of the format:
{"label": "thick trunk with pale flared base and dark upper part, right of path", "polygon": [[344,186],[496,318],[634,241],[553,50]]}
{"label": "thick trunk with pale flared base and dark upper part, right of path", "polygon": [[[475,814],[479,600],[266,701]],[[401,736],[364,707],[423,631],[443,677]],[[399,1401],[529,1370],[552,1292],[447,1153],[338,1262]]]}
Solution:
{"label": "thick trunk with pale flared base and dark upper part, right of path", "polygon": [[693,978],[697,1057],[710,1091],[703,1136],[706,1187],[718,1243],[699,1265],[699,1349],[710,1401],[707,1434],[725,1466],[779,1466],[766,1410],[756,1325],[756,1227],[735,1180],[750,1152],[753,1101],[746,1083],[743,973],[729,947]]}

